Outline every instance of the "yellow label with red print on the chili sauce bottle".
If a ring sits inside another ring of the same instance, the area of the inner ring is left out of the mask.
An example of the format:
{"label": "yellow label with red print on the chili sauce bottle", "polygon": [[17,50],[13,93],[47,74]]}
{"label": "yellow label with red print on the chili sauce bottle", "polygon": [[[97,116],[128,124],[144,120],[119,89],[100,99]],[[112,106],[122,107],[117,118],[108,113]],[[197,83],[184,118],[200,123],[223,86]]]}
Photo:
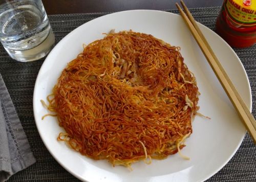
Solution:
{"label": "yellow label with red print on the chili sauce bottle", "polygon": [[225,0],[225,11],[238,25],[256,25],[256,0]]}

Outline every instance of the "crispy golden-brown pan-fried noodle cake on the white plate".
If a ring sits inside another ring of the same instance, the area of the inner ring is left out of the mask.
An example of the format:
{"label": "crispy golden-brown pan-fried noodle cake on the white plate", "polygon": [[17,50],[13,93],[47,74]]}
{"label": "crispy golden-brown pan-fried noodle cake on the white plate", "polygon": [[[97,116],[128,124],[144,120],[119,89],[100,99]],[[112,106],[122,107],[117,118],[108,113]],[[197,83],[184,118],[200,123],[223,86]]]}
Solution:
{"label": "crispy golden-brown pan-fried noodle cake on the white plate", "polygon": [[144,33],[110,32],[68,63],[48,109],[66,131],[58,140],[95,160],[130,167],[180,153],[198,95],[179,47]]}

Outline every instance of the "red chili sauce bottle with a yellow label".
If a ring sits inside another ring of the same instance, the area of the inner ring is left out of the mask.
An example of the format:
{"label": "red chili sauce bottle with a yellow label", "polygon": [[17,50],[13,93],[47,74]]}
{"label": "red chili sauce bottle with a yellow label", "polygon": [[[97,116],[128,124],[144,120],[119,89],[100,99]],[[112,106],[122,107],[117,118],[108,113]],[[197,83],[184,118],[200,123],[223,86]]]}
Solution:
{"label": "red chili sauce bottle with a yellow label", "polygon": [[256,43],[256,0],[224,0],[216,31],[231,47]]}

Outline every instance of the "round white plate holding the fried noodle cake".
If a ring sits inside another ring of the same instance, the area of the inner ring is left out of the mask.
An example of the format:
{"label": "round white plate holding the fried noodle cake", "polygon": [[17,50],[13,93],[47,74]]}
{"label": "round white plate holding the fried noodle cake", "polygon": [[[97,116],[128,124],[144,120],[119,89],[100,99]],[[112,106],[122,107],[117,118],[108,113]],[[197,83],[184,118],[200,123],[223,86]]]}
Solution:
{"label": "round white plate holding the fried noodle cake", "polygon": [[[199,27],[251,109],[249,81],[238,56],[217,34],[201,24]],[[182,149],[182,153],[190,157],[189,161],[176,154],[162,161],[154,160],[151,165],[143,162],[133,164],[132,172],[122,166],[113,168],[105,160],[91,160],[73,151],[64,142],[58,142],[58,133],[63,130],[56,118],[41,120],[48,111],[42,107],[40,99],[46,100],[67,63],[82,52],[83,43],[103,38],[102,33],[111,29],[116,29],[116,32],[132,29],[152,34],[181,47],[185,63],[197,78],[201,92],[200,112],[211,118],[195,118],[193,134]],[[89,21],[72,31],[56,45],[41,66],[34,88],[33,107],[41,139],[55,160],[77,178],[88,181],[202,181],[217,173],[230,160],[246,132],[182,18],[162,11],[113,13]]]}

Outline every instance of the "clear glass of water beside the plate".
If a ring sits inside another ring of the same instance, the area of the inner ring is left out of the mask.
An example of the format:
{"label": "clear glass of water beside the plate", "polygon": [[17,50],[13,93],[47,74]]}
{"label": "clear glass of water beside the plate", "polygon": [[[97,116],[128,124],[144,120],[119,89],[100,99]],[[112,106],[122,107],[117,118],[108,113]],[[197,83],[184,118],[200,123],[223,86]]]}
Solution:
{"label": "clear glass of water beside the plate", "polygon": [[17,61],[46,56],[55,37],[41,0],[0,0],[0,41]]}

